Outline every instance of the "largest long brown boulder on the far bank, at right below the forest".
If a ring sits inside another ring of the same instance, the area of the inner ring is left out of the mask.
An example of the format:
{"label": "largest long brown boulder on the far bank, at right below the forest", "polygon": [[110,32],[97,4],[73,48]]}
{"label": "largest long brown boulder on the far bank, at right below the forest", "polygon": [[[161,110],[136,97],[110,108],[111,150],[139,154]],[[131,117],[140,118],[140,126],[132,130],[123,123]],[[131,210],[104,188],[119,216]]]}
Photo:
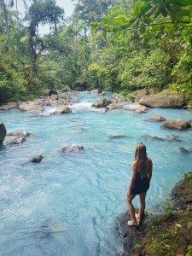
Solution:
{"label": "largest long brown boulder on the far bank, at right below the forest", "polygon": [[139,102],[140,104],[151,108],[182,108],[185,101],[183,96],[170,93],[158,93],[143,96]]}

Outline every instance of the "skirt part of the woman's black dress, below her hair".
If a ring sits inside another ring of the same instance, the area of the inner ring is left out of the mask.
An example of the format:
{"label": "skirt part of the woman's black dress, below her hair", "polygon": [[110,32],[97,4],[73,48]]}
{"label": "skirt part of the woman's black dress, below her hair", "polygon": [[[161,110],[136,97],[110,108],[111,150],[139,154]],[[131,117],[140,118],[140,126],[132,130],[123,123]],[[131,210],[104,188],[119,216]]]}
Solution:
{"label": "skirt part of the woman's black dress, below her hair", "polygon": [[140,172],[137,172],[135,182],[131,186],[131,194],[139,195],[147,192],[149,189],[148,177],[142,177]]}

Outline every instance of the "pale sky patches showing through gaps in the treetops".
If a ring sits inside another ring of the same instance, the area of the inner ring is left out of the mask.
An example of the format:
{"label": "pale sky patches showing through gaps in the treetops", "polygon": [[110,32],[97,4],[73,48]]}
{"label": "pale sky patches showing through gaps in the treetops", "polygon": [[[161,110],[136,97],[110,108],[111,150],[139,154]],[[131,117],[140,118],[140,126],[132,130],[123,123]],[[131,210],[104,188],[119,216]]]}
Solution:
{"label": "pale sky patches showing through gaps in the treetops", "polygon": [[[26,3],[30,3],[29,0],[26,0]],[[65,18],[72,15],[74,9],[75,1],[72,0],[56,0],[56,4],[59,5],[65,11]],[[23,4],[23,0],[18,0],[18,11],[21,14],[25,13],[25,8]],[[40,34],[45,34],[49,32],[49,26],[39,26]]]}

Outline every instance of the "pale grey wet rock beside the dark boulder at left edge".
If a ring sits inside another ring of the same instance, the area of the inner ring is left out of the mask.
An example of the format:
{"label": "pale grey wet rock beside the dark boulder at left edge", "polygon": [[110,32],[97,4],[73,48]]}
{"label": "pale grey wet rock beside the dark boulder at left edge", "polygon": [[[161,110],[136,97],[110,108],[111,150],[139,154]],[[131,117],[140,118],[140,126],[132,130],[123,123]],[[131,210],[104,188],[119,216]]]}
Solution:
{"label": "pale grey wet rock beside the dark boulder at left edge", "polygon": [[7,133],[4,139],[5,145],[21,144],[26,141],[26,138],[30,136],[30,133],[26,130],[17,130]]}

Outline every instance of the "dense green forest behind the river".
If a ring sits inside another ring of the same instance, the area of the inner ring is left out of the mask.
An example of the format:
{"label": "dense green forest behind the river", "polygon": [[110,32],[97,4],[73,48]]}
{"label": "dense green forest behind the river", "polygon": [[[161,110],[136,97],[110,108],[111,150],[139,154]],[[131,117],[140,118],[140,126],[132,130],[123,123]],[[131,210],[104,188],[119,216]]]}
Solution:
{"label": "dense green forest behind the river", "polygon": [[1,103],[67,86],[168,88],[192,102],[191,0],[78,0],[68,19],[55,0],[23,3],[20,15],[0,0]]}

